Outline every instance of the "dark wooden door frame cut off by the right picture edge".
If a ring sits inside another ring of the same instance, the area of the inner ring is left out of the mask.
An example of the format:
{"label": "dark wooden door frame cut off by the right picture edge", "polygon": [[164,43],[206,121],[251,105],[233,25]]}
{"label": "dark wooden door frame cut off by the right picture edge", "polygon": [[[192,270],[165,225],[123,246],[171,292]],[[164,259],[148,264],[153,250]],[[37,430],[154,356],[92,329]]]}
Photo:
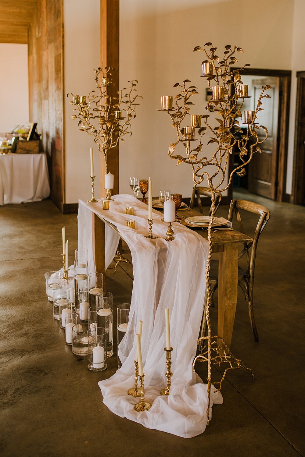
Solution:
{"label": "dark wooden door frame cut off by the right picture edge", "polygon": [[301,89],[305,85],[305,71],[297,71],[297,90],[296,90],[296,106],[295,106],[295,128],[294,128],[294,162],[293,162],[293,177],[292,177],[292,193],[290,197],[291,203],[302,204],[304,195],[302,195],[303,186],[298,185],[300,181],[304,181],[304,164],[305,154],[304,150],[300,151],[298,148],[300,139],[300,110],[301,110]]}

